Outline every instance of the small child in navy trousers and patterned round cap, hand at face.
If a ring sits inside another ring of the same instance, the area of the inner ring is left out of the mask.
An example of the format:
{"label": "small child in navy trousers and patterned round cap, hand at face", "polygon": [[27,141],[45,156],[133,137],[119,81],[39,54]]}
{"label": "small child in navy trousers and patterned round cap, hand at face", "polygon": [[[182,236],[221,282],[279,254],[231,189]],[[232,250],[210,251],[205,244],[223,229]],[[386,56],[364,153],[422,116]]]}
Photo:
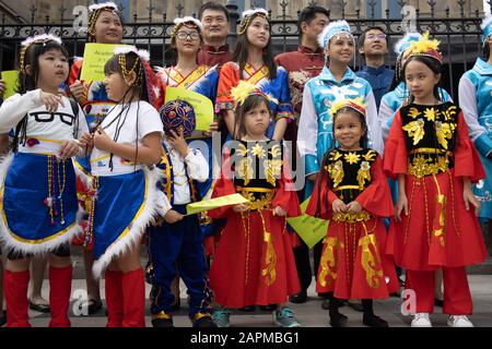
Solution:
{"label": "small child in navy trousers and patterned round cap, hand at face", "polygon": [[159,190],[166,194],[171,208],[148,230],[147,279],[152,284],[152,324],[154,327],[173,326],[175,296],[171,286],[179,273],[190,296],[188,316],[194,327],[215,327],[199,219],[197,215],[186,215],[186,205],[197,201],[197,182],[208,179],[209,166],[201,152],[190,148],[185,141],[196,124],[191,105],[172,100],[161,109],[161,117],[165,137],[157,167],[164,179]]}

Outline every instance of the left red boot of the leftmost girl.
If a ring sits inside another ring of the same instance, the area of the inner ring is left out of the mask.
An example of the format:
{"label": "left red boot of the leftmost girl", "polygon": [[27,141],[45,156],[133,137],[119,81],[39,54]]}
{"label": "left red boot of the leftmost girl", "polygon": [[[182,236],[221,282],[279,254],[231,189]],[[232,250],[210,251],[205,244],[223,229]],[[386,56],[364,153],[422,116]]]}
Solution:
{"label": "left red boot of the leftmost girl", "polygon": [[27,287],[30,270],[3,273],[3,292],[7,302],[7,327],[31,327]]}

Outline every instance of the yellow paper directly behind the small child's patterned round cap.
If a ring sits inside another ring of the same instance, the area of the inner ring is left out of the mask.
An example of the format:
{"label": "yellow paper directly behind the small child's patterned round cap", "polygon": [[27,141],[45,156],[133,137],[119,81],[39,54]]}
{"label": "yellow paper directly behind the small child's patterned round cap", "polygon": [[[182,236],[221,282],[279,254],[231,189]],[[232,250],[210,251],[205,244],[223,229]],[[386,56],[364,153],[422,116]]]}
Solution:
{"label": "yellow paper directly behind the small child's patterned round cap", "polygon": [[194,107],[197,120],[196,130],[209,131],[210,124],[213,122],[213,105],[209,98],[183,87],[167,87],[164,104],[176,99],[185,100]]}

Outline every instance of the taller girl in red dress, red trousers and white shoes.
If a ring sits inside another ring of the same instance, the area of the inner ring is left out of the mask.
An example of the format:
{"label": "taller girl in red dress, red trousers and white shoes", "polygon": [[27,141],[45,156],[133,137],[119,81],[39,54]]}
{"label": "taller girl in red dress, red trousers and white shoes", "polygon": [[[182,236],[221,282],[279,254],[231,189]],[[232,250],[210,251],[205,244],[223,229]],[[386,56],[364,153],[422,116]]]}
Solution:
{"label": "taller girl in red dress, red trousers and white shoes", "polygon": [[442,269],[448,325],[471,327],[465,267],[487,256],[476,216],[480,203],[471,183],[484,178],[484,171],[461,110],[440,100],[437,48],[438,41],[426,33],[403,53],[402,73],[411,97],[396,113],[386,141],[384,168],[398,180],[387,253],[407,270],[406,288],[414,292],[412,326],[432,326],[434,274]]}

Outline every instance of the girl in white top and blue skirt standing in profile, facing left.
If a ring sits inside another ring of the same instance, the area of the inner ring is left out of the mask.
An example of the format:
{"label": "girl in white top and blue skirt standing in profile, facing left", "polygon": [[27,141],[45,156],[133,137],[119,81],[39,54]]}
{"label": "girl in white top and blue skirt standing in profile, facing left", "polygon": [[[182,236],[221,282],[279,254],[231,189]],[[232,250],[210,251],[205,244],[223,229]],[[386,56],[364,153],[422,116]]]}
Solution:
{"label": "girl in white top and blue skirt standing in profile, facing left", "polygon": [[149,103],[144,73],[149,53],[134,47],[115,50],[105,65],[106,92],[116,106],[83,136],[92,149],[95,195],[87,233],[94,239],[93,273],[105,272],[107,326],[142,327],[145,287],[140,241],[168,202],[155,190],[160,172],[162,121]]}

